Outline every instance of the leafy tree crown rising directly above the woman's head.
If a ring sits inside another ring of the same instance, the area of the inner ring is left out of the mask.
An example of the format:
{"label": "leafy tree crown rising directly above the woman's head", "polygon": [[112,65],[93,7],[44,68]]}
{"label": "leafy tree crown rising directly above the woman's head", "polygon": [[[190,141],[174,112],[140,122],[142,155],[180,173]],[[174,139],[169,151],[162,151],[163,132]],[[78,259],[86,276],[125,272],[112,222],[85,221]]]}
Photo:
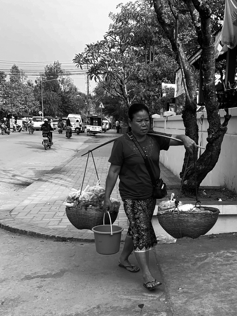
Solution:
{"label": "leafy tree crown rising directly above the woman's head", "polygon": [[160,82],[175,80],[174,54],[147,1],[118,7],[119,13],[109,15],[113,23],[104,40],[88,44],[73,62],[78,67],[89,64],[90,79],[110,98],[119,98],[120,108],[132,102],[152,107],[161,96]]}

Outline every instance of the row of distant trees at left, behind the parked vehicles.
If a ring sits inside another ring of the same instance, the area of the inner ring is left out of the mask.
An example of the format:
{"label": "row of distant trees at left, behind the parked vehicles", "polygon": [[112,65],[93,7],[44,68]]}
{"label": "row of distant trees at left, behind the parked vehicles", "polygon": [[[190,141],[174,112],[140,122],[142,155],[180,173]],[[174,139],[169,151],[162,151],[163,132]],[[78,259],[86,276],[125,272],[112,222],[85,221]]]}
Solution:
{"label": "row of distant trees at left, behind the parked vehicles", "polygon": [[88,96],[78,90],[69,73],[55,61],[45,67],[45,72],[34,83],[15,64],[10,70],[9,80],[1,71],[0,116],[11,113],[21,117],[23,112],[39,115],[38,112],[42,111],[41,82],[44,115],[61,117],[87,111]]}

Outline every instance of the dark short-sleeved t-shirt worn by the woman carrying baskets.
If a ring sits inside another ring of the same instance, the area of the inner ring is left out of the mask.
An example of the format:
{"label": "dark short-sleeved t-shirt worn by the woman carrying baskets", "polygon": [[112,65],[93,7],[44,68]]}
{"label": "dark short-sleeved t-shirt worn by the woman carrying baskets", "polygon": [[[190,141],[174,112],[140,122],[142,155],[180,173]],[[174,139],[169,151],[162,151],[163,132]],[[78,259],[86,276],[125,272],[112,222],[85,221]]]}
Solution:
{"label": "dark short-sleeved t-shirt worn by the woman carrying baskets", "polygon": [[[158,132],[155,134],[171,136]],[[164,137],[146,135],[145,141],[139,143],[149,159],[157,180],[160,178],[160,150],[168,150],[169,142],[170,140]],[[121,166],[119,193],[122,199],[143,200],[152,197],[153,185],[143,156],[127,134],[114,142],[109,162]]]}

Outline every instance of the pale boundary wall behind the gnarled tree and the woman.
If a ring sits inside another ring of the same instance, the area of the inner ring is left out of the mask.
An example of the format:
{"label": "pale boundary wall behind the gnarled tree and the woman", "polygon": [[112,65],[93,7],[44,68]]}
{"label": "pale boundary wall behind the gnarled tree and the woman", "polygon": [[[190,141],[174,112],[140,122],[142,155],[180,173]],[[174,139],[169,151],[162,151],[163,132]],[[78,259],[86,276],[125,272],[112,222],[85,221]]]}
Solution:
{"label": "pale boundary wall behind the gnarled tree and the woman", "polygon": [[[219,110],[221,116],[221,123],[224,121],[224,110]],[[203,125],[200,124],[199,119],[204,114]],[[232,115],[228,123],[228,130],[224,136],[221,154],[214,169],[208,173],[201,185],[219,186],[226,184],[229,189],[236,189],[237,191],[237,108],[229,109],[229,114]],[[199,143],[202,147],[206,147],[207,141],[207,113],[197,113],[197,125],[199,129]],[[169,116],[165,118],[153,119],[154,131],[164,132],[167,134],[185,134],[185,127],[181,115]],[[204,152],[204,149],[198,150]],[[176,176],[182,170],[185,149],[183,146],[172,146],[168,151],[162,150],[160,154],[160,161],[171,170]]]}

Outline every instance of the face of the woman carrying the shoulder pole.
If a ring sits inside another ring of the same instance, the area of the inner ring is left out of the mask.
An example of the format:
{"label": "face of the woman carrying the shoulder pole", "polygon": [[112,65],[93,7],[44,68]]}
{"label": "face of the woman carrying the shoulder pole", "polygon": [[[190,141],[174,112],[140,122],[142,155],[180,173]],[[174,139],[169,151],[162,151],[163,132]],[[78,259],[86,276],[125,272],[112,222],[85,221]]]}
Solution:
{"label": "face of the woman carrying the shoulder pole", "polygon": [[132,121],[128,119],[128,124],[135,136],[144,136],[150,129],[149,114],[146,111],[137,112]]}

